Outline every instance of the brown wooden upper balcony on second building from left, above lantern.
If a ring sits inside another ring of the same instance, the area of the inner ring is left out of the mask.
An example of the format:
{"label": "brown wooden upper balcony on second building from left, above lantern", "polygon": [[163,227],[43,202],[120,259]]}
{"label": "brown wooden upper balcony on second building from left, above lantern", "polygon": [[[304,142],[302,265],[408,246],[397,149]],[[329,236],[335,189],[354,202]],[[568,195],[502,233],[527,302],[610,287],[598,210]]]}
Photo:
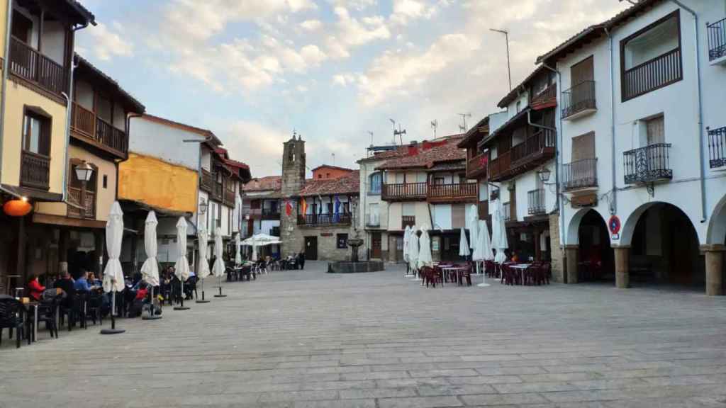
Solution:
{"label": "brown wooden upper balcony on second building from left, above lantern", "polygon": [[129,151],[126,131],[116,128],[76,102],[72,105],[70,130],[76,139],[113,153],[119,158],[125,158]]}

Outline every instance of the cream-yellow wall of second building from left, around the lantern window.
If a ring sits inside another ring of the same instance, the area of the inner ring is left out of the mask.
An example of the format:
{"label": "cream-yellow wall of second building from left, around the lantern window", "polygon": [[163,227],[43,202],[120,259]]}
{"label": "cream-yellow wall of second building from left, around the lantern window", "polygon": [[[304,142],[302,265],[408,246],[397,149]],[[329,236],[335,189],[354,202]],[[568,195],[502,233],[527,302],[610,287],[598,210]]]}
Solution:
{"label": "cream-yellow wall of second building from left, around the lantern window", "polygon": [[[98,174],[96,175],[96,219],[98,221],[107,221],[108,213],[111,211],[111,205],[116,199],[116,165],[113,161],[99,158],[97,155],[84,150],[81,147],[70,145],[68,148],[68,158],[86,160],[86,162],[97,166]],[[103,188],[103,176],[107,176],[106,188]],[[50,214],[54,216],[66,216],[68,214],[67,205],[64,203],[38,203],[36,211],[38,213]]]}

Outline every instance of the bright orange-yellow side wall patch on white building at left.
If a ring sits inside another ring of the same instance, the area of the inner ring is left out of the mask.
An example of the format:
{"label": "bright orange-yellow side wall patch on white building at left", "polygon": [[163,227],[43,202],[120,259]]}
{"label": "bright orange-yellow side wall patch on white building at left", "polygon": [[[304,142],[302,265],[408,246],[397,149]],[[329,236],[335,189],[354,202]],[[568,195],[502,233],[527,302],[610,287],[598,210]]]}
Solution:
{"label": "bright orange-yellow side wall patch on white building at left", "polygon": [[196,171],[129,152],[129,160],[118,165],[118,198],[194,213],[197,181]]}

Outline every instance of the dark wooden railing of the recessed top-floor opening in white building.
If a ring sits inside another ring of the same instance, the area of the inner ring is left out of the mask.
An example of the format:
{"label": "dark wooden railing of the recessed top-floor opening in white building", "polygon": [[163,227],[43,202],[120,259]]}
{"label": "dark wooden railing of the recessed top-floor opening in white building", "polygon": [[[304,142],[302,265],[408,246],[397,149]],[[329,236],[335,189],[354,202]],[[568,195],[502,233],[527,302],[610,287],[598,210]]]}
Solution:
{"label": "dark wooden railing of the recessed top-floor opening in white building", "polygon": [[680,48],[625,70],[622,77],[623,102],[668,86],[683,78]]}

